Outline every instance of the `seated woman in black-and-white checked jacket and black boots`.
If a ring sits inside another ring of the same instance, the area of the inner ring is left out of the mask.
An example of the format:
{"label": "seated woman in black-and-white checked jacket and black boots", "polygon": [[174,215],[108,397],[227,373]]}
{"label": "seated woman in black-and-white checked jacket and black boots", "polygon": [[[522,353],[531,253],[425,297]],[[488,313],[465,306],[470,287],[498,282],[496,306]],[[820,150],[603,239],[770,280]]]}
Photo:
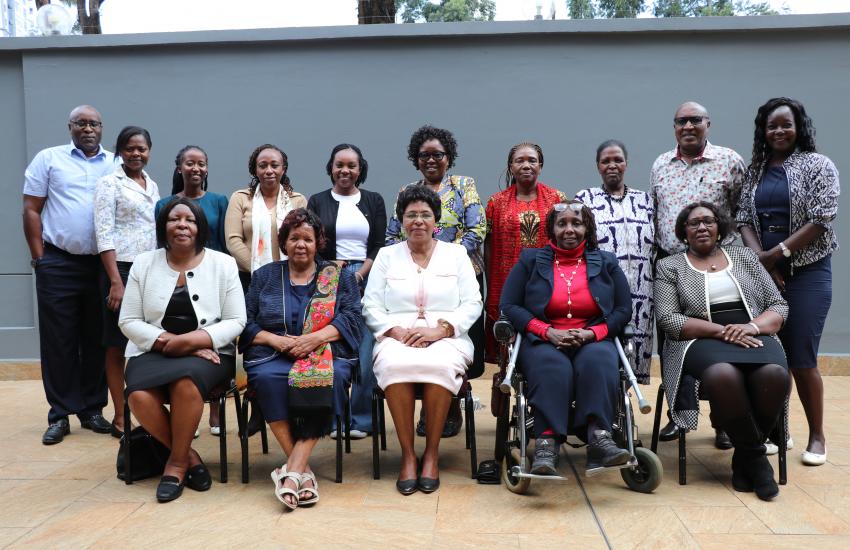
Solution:
{"label": "seated woman in black-and-white checked jacket and black boots", "polygon": [[755,252],[721,245],[731,230],[708,202],[686,206],[676,219],[676,237],[688,249],[659,261],[655,276],[655,311],[667,333],[662,374],[673,421],[695,430],[699,393],[706,395],[712,425],[735,446],[732,486],[770,500],[779,487],[764,442],[788,391],[776,337],[788,304]]}

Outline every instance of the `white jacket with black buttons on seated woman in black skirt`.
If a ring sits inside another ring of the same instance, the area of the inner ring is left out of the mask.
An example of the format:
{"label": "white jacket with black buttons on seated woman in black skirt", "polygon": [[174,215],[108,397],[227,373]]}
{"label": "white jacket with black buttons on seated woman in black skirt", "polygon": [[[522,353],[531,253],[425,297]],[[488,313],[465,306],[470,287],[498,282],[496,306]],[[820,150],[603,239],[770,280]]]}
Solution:
{"label": "white jacket with black buttons on seated woman in black skirt", "polygon": [[[179,276],[168,266],[163,248],[136,256],[118,319],[121,332],[129,339],[126,357],[150,351],[165,332],[162,318]],[[205,249],[201,263],[186,272],[186,287],[198,328],[210,335],[218,353],[234,355],[233,341],[245,328],[245,296],[236,261],[227,254]]]}

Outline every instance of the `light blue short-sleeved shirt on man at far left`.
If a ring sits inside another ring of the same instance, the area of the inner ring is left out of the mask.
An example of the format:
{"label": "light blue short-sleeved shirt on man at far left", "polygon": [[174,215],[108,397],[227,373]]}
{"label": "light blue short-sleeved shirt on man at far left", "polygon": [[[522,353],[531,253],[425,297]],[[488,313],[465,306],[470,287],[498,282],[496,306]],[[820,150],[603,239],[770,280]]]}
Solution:
{"label": "light blue short-sleeved shirt on man at far left", "polygon": [[43,149],[24,174],[24,195],[46,197],[42,239],[71,254],[97,254],[94,191],[115,170],[115,156],[100,147],[88,158],[73,143]]}

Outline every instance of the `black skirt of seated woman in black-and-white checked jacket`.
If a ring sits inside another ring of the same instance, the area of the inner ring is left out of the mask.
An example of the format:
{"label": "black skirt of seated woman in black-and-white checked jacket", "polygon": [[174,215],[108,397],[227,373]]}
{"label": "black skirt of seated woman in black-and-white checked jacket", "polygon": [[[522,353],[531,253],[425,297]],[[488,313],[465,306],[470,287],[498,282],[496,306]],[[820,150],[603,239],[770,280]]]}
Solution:
{"label": "black skirt of seated woman in black-and-white checked jacket", "polygon": [[[743,304],[716,304],[711,306],[711,319],[720,325],[746,324],[751,321]],[[737,367],[775,364],[788,368],[785,352],[775,338],[757,336],[764,344],[760,348],[743,348],[716,338],[698,338],[688,347],[683,372],[701,378],[705,369],[717,363],[731,363]]]}

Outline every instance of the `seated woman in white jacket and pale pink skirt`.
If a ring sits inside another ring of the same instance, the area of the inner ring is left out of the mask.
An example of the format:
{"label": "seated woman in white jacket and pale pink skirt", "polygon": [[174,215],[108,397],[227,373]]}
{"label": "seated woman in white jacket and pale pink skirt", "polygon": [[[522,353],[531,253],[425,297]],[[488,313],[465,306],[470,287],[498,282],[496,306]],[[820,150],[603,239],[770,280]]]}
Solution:
{"label": "seated woman in white jacket and pale pink skirt", "polygon": [[[378,252],[363,297],[363,315],[377,341],[375,378],[401,445],[396,487],[404,495],[439,488],[440,436],[451,398],[473,359],[467,333],[482,309],[466,249],[434,239],[440,213],[440,198],[427,187],[411,186],[399,194],[396,215],[408,238]],[[424,386],[422,407],[429,419],[418,479],[414,384]]]}

